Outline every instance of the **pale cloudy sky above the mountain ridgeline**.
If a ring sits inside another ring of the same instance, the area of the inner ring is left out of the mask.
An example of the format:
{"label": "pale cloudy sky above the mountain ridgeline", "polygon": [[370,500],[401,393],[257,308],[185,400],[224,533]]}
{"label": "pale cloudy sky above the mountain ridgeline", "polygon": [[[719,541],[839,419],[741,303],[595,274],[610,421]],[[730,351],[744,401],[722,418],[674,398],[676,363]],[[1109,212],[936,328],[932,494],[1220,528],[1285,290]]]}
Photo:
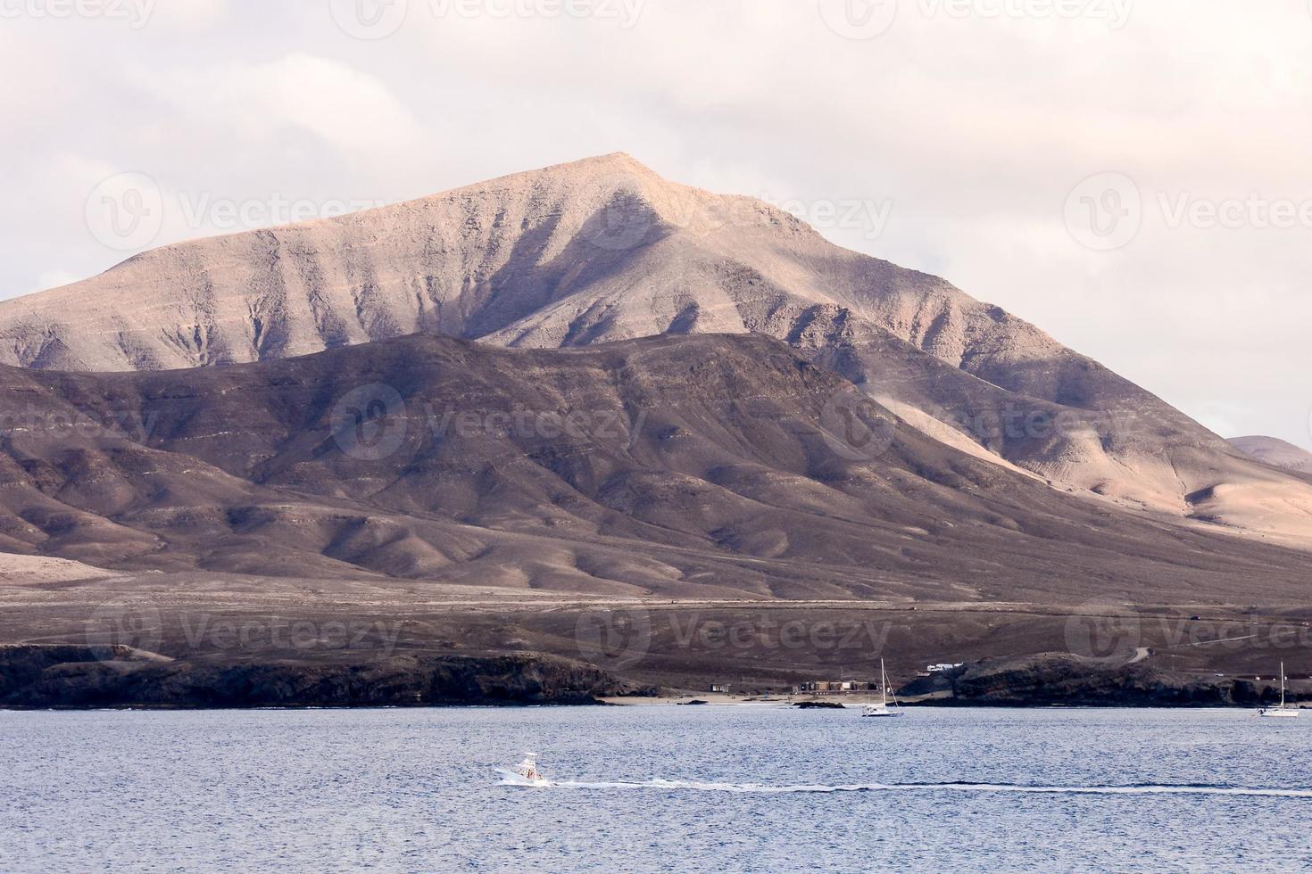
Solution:
{"label": "pale cloudy sky above the mountain ridgeline", "polygon": [[623,151],[1312,448],[1309,0],[0,0],[0,299]]}

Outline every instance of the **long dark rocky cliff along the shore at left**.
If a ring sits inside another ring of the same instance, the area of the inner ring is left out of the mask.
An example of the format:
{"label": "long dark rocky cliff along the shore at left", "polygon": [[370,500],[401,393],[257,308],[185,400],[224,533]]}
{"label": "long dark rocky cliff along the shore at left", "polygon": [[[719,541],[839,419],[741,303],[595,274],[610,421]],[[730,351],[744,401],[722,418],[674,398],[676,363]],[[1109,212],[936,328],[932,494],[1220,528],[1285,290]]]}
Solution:
{"label": "long dark rocky cliff along the shore at left", "polygon": [[597,704],[632,688],[544,655],[369,662],[165,659],[123,646],[0,647],[8,708],[304,708]]}

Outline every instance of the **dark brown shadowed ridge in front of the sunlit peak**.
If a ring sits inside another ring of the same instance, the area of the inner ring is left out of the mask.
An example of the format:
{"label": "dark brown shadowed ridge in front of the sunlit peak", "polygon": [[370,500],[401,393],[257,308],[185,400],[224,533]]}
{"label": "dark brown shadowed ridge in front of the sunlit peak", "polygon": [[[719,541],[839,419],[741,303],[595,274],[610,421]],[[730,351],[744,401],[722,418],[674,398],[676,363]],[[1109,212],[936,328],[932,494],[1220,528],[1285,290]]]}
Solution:
{"label": "dark brown shadowed ridge in front of the sunlit peak", "polygon": [[988,603],[1305,586],[1303,552],[1059,493],[757,334],[0,367],[0,550],[122,573]]}

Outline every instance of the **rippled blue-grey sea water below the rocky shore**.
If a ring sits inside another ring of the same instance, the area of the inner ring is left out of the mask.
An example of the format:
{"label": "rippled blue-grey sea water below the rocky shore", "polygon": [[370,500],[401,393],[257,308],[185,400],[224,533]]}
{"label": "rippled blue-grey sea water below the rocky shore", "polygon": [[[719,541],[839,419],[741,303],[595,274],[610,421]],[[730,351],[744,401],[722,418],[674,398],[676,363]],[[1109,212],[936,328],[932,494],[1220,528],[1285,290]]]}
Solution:
{"label": "rippled blue-grey sea water below the rocky shore", "polygon": [[1309,717],[10,712],[0,870],[1308,870]]}

